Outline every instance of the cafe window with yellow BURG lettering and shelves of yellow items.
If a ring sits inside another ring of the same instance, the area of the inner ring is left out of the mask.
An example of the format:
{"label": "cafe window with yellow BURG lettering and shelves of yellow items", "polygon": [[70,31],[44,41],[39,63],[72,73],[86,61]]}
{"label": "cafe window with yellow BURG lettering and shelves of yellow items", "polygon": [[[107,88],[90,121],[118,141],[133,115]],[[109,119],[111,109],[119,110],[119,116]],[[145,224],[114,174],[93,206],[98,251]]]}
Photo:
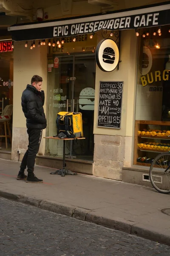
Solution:
{"label": "cafe window with yellow BURG lettering and shelves of yellow items", "polygon": [[168,26],[141,31],[136,86],[133,163],[150,166],[170,151],[170,33]]}

